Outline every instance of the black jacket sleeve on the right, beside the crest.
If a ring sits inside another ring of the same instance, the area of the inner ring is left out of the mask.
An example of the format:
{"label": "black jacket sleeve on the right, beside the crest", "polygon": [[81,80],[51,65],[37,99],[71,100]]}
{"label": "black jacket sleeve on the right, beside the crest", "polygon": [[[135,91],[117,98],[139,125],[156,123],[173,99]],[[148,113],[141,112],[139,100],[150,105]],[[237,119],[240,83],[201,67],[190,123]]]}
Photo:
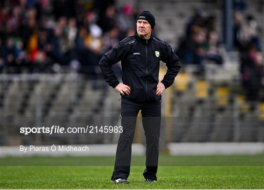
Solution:
{"label": "black jacket sleeve on the right, beside the crest", "polygon": [[172,47],[168,43],[165,43],[165,46],[166,48],[164,51],[164,57],[161,61],[166,63],[168,69],[161,83],[164,84],[165,88],[168,88],[173,84],[181,66],[179,63],[179,58]]}

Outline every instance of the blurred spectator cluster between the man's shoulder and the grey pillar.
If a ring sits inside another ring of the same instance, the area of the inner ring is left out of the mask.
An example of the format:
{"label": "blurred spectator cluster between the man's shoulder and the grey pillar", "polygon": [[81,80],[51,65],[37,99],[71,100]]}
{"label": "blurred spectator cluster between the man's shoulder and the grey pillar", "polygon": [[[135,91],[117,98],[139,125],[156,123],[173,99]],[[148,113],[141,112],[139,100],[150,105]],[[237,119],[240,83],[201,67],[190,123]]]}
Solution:
{"label": "blurred spectator cluster between the man's shoulder and the grey pillar", "polygon": [[198,71],[202,71],[204,60],[222,64],[216,17],[205,16],[202,10],[195,10],[186,25],[185,36],[180,39],[176,53],[184,64],[196,64]]}

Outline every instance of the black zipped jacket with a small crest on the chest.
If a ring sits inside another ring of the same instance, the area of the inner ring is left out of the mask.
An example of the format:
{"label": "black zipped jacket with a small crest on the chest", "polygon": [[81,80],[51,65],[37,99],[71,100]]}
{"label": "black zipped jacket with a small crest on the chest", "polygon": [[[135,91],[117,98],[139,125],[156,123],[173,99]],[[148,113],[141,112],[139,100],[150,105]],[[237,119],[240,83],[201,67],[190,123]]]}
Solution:
{"label": "black zipped jacket with a small crest on the chest", "polygon": [[131,94],[125,96],[135,102],[149,102],[161,98],[161,95],[156,95],[160,61],[166,63],[168,67],[161,81],[166,88],[173,84],[180,70],[179,59],[172,47],[153,35],[145,40],[135,33],[103,55],[99,65],[106,82],[113,88],[119,84],[119,81],[111,66],[120,60],[123,83],[131,88]]}

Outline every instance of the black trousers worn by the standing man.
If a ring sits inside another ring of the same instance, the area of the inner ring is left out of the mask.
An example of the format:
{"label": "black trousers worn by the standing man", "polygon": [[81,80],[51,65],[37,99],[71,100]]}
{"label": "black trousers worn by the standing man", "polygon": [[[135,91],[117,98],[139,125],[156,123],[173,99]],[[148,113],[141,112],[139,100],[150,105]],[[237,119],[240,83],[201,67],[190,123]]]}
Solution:
{"label": "black trousers worn by the standing man", "polygon": [[136,103],[125,97],[121,99],[121,126],[123,132],[118,140],[114,171],[111,180],[123,177],[127,179],[131,166],[131,146],[134,138],[137,114],[141,110],[142,124],[146,136],[145,179],[157,180],[158,142],[160,135],[161,100]]}

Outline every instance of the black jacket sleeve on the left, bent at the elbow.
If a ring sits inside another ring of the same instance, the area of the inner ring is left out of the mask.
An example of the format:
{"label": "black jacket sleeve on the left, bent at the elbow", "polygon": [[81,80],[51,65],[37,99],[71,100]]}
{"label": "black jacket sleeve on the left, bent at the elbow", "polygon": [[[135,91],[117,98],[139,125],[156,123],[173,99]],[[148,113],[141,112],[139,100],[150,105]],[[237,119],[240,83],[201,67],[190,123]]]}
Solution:
{"label": "black jacket sleeve on the left, bent at the elbow", "polygon": [[111,67],[113,64],[122,60],[122,58],[126,55],[125,46],[123,46],[121,42],[119,42],[109,52],[105,53],[99,62],[99,66],[105,76],[106,82],[113,88],[119,84],[119,81],[117,80]]}

